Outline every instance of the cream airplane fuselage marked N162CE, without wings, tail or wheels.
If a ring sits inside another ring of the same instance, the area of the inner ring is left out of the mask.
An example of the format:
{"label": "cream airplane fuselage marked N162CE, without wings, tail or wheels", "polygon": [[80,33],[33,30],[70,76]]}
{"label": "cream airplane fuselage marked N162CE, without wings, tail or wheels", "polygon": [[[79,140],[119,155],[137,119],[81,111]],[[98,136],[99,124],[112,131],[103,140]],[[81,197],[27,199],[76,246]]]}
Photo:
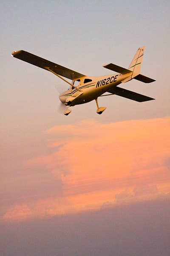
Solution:
{"label": "cream airplane fuselage marked N162CE, without wings, tail or wheels", "polygon": [[59,95],[59,99],[65,105],[74,106],[84,104],[97,99],[97,97],[109,89],[116,87],[128,76],[129,74],[111,74],[97,77],[83,76],[80,79],[72,81],[72,84],[79,83],[76,85],[79,90],[71,86],[67,91]]}

